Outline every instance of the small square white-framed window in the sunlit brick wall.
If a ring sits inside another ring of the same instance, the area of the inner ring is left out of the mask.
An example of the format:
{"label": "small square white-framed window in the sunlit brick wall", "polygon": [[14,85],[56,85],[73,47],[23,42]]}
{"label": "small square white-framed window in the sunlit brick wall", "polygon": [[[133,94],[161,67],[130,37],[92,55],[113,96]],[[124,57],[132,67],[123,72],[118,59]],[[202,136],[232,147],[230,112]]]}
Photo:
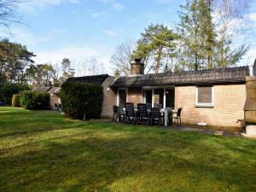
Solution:
{"label": "small square white-framed window in the sunlit brick wall", "polygon": [[196,87],[196,107],[213,107],[214,106],[214,89],[213,86]]}

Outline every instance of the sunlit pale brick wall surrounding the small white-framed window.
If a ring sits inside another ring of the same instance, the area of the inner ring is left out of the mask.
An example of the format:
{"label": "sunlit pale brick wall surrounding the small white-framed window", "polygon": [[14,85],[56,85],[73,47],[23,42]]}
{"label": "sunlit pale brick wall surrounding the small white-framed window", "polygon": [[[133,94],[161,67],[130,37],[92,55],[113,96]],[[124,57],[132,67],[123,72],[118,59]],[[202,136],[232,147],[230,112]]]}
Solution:
{"label": "sunlit pale brick wall surrounding the small white-framed window", "polygon": [[175,87],[175,108],[183,108],[182,121],[197,124],[239,127],[237,119],[244,118],[246,85],[214,85],[214,108],[195,108],[195,86]]}

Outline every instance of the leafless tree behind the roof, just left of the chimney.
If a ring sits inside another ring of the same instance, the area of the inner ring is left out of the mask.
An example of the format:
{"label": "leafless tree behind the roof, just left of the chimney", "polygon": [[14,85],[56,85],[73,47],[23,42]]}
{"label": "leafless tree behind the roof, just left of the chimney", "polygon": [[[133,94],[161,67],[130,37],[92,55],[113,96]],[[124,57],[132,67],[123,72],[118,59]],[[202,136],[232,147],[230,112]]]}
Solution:
{"label": "leafless tree behind the roof, just left of the chimney", "polygon": [[119,69],[121,75],[131,74],[131,55],[135,48],[136,44],[131,41],[118,45],[110,58],[110,63],[113,64],[114,70]]}

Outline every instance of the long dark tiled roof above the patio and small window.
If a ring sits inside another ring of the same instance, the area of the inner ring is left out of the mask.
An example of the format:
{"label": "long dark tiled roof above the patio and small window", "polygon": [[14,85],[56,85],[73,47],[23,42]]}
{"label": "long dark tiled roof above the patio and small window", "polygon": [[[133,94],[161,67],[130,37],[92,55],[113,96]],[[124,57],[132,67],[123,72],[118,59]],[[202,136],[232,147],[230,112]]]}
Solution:
{"label": "long dark tiled roof above the patio and small window", "polygon": [[215,68],[181,73],[157,73],[119,77],[113,87],[140,87],[150,85],[234,84],[245,83],[249,67]]}

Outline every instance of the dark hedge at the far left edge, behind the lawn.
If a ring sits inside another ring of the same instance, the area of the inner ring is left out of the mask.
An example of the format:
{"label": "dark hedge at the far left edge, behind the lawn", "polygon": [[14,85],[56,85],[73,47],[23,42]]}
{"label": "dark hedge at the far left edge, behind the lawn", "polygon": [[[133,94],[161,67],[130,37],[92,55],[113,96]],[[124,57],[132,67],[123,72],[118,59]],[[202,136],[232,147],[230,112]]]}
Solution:
{"label": "dark hedge at the far left edge, behind the lawn", "polygon": [[0,100],[3,100],[5,105],[11,105],[13,96],[20,93],[21,90],[29,90],[29,88],[22,84],[0,84]]}

